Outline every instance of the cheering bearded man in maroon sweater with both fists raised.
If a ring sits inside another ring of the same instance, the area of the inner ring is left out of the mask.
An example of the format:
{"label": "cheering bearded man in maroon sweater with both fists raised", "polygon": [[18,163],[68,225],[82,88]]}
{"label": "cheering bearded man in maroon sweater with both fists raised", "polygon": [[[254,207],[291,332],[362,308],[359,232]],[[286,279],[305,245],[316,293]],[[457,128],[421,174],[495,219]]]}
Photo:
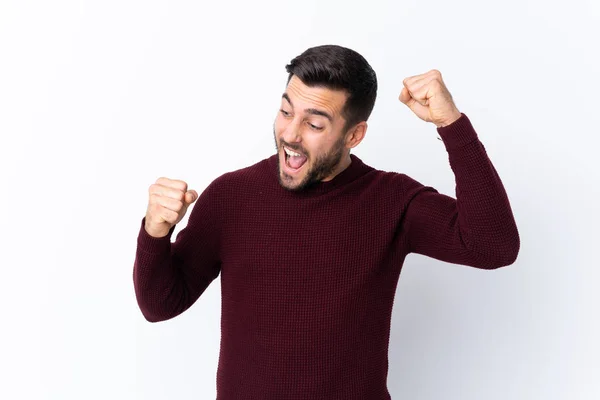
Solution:
{"label": "cheering bearded man in maroon sweater with both fists raised", "polygon": [[509,201],[438,71],[405,79],[400,100],[437,126],[457,199],[350,154],[377,92],[362,56],[319,46],[286,69],[276,154],[200,196],[180,180],[150,186],[137,301],[148,321],[167,320],[221,274],[219,400],[390,399],[388,339],[406,255],[512,264],[520,244]]}

